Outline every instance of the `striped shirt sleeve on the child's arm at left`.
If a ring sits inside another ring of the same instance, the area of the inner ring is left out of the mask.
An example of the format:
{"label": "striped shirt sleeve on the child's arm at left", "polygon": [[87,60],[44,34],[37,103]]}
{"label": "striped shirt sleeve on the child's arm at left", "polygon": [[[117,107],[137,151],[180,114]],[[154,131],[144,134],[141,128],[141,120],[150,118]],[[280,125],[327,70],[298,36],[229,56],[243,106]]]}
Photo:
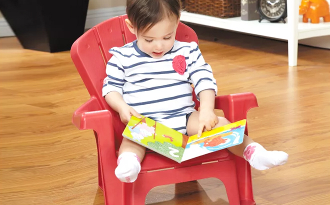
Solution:
{"label": "striped shirt sleeve on the child's arm at left", "polygon": [[113,55],[106,63],[105,72],[106,77],[103,80],[102,96],[104,97],[111,91],[117,91],[122,95],[125,73],[115,55]]}

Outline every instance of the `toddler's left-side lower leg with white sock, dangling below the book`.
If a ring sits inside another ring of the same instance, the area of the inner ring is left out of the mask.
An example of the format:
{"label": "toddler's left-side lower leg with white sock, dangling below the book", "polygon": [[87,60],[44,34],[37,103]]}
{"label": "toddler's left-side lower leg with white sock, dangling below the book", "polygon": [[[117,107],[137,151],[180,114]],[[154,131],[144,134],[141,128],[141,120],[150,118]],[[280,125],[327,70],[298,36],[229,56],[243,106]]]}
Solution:
{"label": "toddler's left-side lower leg with white sock, dangling below the book", "polygon": [[118,160],[114,173],[120,181],[134,182],[141,170],[140,162],[145,154],[145,147],[123,138],[119,147]]}

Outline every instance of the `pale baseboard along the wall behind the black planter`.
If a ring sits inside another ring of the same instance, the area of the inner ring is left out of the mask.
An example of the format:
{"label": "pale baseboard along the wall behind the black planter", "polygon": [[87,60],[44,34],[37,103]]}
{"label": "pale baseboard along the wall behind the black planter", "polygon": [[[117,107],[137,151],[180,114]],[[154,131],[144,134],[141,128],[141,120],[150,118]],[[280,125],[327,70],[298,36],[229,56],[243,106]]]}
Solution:
{"label": "pale baseboard along the wall behind the black planter", "polygon": [[[86,23],[85,23],[85,29],[89,29],[93,27],[94,25],[109,19],[111,17],[122,15],[126,13],[126,7],[125,6],[116,6],[116,7],[109,7],[109,8],[99,8],[99,9],[93,9],[93,10],[87,10],[87,16],[86,16]],[[14,36],[14,32],[10,28],[7,21],[4,19],[4,17],[0,18],[0,37],[5,36]]]}

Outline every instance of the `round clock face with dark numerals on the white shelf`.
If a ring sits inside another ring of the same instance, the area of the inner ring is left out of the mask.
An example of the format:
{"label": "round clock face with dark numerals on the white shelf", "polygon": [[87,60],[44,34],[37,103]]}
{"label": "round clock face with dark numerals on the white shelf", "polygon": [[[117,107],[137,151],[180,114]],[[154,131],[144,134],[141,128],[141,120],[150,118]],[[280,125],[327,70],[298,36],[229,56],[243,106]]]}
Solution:
{"label": "round clock face with dark numerals on the white shelf", "polygon": [[267,18],[278,18],[285,11],[285,0],[260,0],[260,11]]}

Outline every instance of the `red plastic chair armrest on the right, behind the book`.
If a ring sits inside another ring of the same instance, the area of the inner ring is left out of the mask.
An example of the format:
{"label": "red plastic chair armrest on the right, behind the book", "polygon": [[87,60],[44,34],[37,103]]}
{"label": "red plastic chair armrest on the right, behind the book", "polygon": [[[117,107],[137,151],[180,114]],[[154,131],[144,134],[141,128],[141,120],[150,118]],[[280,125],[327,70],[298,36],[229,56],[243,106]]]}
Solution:
{"label": "red plastic chair armrest on the right, behind the book", "polygon": [[257,107],[258,103],[252,92],[219,95],[215,97],[215,109],[221,109],[231,122],[246,119],[247,111]]}

